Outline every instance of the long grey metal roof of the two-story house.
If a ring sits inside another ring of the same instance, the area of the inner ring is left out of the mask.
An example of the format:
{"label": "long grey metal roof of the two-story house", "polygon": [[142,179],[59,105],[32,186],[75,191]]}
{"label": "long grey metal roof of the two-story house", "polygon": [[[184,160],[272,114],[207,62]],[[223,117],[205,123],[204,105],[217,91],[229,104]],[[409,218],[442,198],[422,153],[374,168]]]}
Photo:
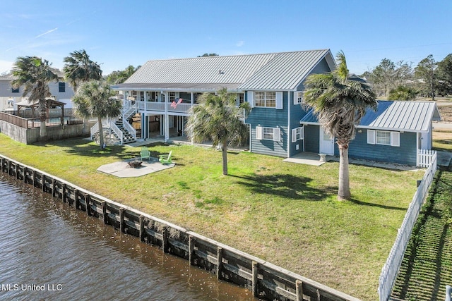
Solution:
{"label": "long grey metal roof of the two-story house", "polygon": [[295,90],[329,49],[148,61],[114,90]]}

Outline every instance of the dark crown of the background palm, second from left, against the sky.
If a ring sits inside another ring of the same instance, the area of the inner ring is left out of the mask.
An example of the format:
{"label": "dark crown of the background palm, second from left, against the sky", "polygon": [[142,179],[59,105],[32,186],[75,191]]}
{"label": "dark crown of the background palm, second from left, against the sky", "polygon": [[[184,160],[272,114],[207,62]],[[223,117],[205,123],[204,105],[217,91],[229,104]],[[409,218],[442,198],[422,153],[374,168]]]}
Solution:
{"label": "dark crown of the background palm, second from left, against the sky", "polygon": [[90,80],[100,80],[102,78],[102,70],[99,64],[90,60],[90,56],[85,49],[73,51],[64,58],[64,78],[77,92],[78,85],[81,82]]}

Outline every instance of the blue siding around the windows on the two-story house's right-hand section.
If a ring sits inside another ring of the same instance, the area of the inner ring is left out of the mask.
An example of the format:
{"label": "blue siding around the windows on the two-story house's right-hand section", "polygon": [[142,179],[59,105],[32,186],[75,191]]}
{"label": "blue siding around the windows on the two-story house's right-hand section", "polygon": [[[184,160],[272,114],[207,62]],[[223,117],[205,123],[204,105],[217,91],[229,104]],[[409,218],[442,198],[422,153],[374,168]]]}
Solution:
{"label": "blue siding around the windows on the two-story house's right-hand section", "polygon": [[[247,96],[248,95],[245,92],[245,97]],[[257,154],[269,154],[272,156],[287,156],[287,139],[290,139],[290,133],[287,132],[287,109],[287,92],[283,92],[283,109],[261,107],[254,107],[251,109],[251,113],[249,113],[249,116],[245,121],[251,125],[251,152]],[[258,125],[266,128],[280,128],[281,141],[257,140],[256,126]]]}

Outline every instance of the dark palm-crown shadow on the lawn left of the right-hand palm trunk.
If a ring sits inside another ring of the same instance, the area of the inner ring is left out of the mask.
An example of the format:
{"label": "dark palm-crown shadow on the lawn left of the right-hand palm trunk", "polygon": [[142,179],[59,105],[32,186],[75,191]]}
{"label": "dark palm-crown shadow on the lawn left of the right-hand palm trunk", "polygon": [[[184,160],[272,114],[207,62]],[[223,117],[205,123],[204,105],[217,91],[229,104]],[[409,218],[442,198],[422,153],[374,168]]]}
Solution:
{"label": "dark palm-crown shadow on the lawn left of the right-hand palm trunk", "polygon": [[321,201],[338,192],[337,187],[331,186],[313,188],[308,185],[312,180],[311,178],[289,174],[233,177],[242,178],[243,180],[238,180],[237,183],[244,185],[251,192],[273,195],[275,197],[285,197],[287,199]]}

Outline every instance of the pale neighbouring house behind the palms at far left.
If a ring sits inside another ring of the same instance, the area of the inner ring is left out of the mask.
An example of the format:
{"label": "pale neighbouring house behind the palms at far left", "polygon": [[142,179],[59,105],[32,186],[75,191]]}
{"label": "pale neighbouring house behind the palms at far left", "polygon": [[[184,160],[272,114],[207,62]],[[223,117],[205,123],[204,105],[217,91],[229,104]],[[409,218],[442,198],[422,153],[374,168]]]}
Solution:
{"label": "pale neighbouring house behind the palms at far left", "polygon": [[[61,71],[58,70],[57,74],[60,80],[49,82],[50,93],[54,100],[65,103],[66,108],[71,108],[73,106],[71,98],[74,94],[72,87],[64,82]],[[27,100],[26,97],[22,97],[23,87],[19,89],[11,87],[13,79],[12,75],[0,76],[0,111],[17,110],[15,104]]]}

